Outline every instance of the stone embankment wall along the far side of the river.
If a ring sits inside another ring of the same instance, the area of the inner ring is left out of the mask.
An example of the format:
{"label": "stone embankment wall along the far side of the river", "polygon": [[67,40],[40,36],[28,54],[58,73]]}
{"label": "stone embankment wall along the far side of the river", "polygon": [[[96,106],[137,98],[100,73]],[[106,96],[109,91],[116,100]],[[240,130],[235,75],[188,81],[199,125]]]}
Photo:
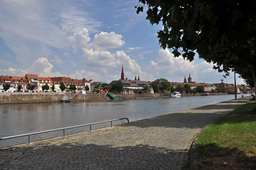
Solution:
{"label": "stone embankment wall along the far side of the river", "polygon": [[[74,101],[86,100],[110,100],[107,94],[58,94],[58,93],[3,93],[0,94],[0,104],[5,103],[33,103],[33,102],[58,102],[67,95],[68,99]],[[146,98],[170,98],[170,93],[162,94],[114,94],[126,99]]]}

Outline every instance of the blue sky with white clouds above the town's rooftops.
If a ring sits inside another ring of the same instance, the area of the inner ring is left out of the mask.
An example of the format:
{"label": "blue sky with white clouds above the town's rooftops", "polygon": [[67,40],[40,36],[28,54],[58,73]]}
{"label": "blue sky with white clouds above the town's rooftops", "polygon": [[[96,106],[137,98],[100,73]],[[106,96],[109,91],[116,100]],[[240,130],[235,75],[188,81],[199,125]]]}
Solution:
{"label": "blue sky with white clouds above the town's rooftops", "polygon": [[[138,0],[0,0],[0,75],[86,78],[110,83],[125,77],[220,83],[223,73],[195,56],[163,50]],[[145,9],[146,10],[146,9]],[[237,75],[238,76],[238,75]],[[236,76],[236,83],[243,79]],[[234,83],[234,73],[223,79]]]}

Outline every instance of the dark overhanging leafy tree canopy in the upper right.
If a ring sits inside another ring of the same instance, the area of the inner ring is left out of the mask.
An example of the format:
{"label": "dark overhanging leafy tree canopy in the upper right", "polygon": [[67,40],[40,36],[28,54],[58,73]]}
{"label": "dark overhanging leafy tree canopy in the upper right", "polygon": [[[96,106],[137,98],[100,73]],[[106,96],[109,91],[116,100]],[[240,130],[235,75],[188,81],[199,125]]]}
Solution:
{"label": "dark overhanging leafy tree canopy in the upper right", "polygon": [[[236,71],[256,85],[256,1],[139,0],[137,13],[146,5],[152,25],[163,23],[159,44],[173,48],[174,56],[214,63],[214,69]],[[221,5],[220,5],[221,4]],[[180,49],[182,51],[180,51]],[[248,74],[250,72],[250,74]]]}

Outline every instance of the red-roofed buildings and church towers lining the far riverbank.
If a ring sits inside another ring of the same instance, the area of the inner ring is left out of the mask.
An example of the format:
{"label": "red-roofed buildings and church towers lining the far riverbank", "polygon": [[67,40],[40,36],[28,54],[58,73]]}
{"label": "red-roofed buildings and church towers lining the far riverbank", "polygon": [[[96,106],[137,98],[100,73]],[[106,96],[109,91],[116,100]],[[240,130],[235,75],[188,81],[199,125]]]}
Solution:
{"label": "red-roofed buildings and church towers lining the far riverbank", "polygon": [[[54,84],[54,92],[61,92],[60,90],[60,84],[64,83],[64,85],[66,86],[66,92],[70,92],[70,86],[71,85],[75,85],[77,90],[76,91],[82,91],[85,90],[85,87],[88,86],[89,87],[89,91],[87,92],[92,92],[94,90],[95,87],[100,88],[102,83],[106,83],[106,82],[95,82],[93,79],[90,80],[86,80],[85,78],[83,79],[73,79],[70,77],[38,77],[37,75],[34,74],[26,74],[25,77],[17,77],[17,76],[1,76],[0,77],[0,92],[4,92],[3,90],[3,84],[10,84],[11,88],[8,92],[17,92],[17,87],[18,85],[22,86],[22,91],[23,92],[28,92],[26,86],[28,84],[30,85],[34,85],[35,89],[34,91],[36,92],[42,92],[42,86],[44,86],[45,84],[48,84],[50,87],[50,90],[48,90],[49,92],[52,91],[51,87]],[[122,83],[124,85],[124,89],[129,89],[129,90],[142,90],[143,87],[148,87],[148,93],[154,93],[154,91],[152,91],[152,88],[150,88],[150,85],[153,84],[154,82],[150,82],[150,81],[143,81],[140,80],[140,76],[135,76],[134,80],[128,79],[127,77],[124,78],[124,69],[123,69],[123,64],[122,64],[122,72],[121,72],[121,79],[119,80],[114,80],[111,83],[109,83],[109,86],[107,86],[107,89],[110,90],[111,85],[113,83]],[[170,82],[170,84],[175,88],[178,85],[182,85],[184,86],[185,84],[189,84],[190,87],[196,88],[198,86],[204,86],[204,91],[212,91],[215,90],[215,88],[217,87],[225,87],[227,89],[228,93],[234,93],[235,92],[235,85],[234,84],[226,84],[226,83],[215,83],[215,84],[207,84],[207,83],[196,83],[196,82],[192,82],[192,78],[188,77],[188,81],[187,78],[184,78],[184,82],[183,83],[179,83],[179,82]],[[243,89],[249,90],[249,87],[247,87],[246,85],[237,85],[237,92],[240,93],[239,91],[239,87],[243,87]],[[147,93],[146,91],[143,91],[145,93]],[[247,92],[247,91],[246,91]],[[128,93],[127,91],[124,93]],[[130,93],[130,92],[129,92]],[[142,91],[139,91],[139,93],[142,93]]]}

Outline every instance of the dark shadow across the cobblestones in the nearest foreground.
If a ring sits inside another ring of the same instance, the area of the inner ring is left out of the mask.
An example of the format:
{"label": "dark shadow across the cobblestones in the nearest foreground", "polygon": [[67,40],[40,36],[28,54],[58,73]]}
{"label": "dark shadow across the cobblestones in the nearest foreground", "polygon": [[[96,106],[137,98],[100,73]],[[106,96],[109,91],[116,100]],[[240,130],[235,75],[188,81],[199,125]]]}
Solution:
{"label": "dark shadow across the cobblestones in the nearest foreground", "polygon": [[60,143],[0,151],[0,169],[181,169],[185,150]]}

